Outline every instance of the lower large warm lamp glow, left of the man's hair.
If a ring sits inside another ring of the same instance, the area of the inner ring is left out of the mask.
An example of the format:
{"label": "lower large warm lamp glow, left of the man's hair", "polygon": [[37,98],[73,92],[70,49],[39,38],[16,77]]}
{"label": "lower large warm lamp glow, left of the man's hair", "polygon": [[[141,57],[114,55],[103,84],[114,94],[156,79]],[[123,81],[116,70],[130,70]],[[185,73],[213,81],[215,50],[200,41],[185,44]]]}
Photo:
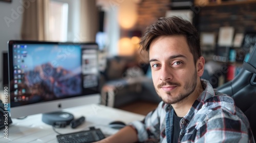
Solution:
{"label": "lower large warm lamp glow, left of the man's hair", "polygon": [[119,55],[120,56],[131,56],[134,55],[135,49],[134,44],[130,38],[121,38],[118,42],[119,45]]}

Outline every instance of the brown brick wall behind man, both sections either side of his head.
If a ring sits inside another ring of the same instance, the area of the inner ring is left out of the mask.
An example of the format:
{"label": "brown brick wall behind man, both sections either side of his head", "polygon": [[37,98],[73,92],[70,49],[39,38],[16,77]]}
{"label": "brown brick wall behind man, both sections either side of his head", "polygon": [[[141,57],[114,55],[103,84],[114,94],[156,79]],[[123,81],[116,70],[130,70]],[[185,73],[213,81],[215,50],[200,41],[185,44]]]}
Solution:
{"label": "brown brick wall behind man, both sections either side of his head", "polygon": [[[157,18],[165,16],[170,0],[143,0],[138,4],[136,29],[144,32]],[[196,26],[200,32],[219,32],[223,26],[234,27],[236,33],[256,31],[256,2],[201,7]]]}

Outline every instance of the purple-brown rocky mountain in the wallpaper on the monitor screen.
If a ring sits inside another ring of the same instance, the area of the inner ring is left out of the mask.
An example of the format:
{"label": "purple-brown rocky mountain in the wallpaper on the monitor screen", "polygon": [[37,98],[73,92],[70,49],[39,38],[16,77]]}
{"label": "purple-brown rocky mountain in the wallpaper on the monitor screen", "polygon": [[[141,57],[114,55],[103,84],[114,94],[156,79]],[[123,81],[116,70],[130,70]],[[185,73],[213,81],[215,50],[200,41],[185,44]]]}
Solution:
{"label": "purple-brown rocky mountain in the wallpaper on the monitor screen", "polygon": [[31,92],[42,100],[51,100],[81,94],[81,74],[51,63],[41,64],[25,72],[25,80]]}

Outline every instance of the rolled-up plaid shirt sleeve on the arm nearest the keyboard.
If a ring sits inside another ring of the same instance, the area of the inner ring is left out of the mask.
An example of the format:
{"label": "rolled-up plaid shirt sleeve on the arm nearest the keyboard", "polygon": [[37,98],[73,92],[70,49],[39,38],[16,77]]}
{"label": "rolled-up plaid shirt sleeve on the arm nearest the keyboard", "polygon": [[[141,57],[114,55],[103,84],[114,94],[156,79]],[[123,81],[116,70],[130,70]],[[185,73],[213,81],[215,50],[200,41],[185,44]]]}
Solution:
{"label": "rolled-up plaid shirt sleeve on the arm nearest the keyboard", "polygon": [[160,115],[163,110],[164,103],[160,102],[158,107],[148,113],[143,121],[134,121],[130,123],[137,130],[140,142],[146,140],[160,140]]}

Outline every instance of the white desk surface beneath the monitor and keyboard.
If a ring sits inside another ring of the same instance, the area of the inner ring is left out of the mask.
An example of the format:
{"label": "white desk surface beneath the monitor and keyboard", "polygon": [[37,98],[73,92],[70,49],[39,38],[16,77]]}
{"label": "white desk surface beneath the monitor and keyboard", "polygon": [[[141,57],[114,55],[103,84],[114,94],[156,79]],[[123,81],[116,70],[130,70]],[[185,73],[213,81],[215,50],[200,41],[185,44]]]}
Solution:
{"label": "white desk surface beneath the monitor and keyboard", "polygon": [[[119,120],[128,124],[144,118],[144,115],[97,104],[69,108],[64,111],[72,113],[75,118],[83,115],[86,117],[86,122],[76,129],[72,129],[69,126],[57,128],[56,131],[62,134],[89,130],[89,127],[94,126],[95,128],[100,128],[105,135],[110,135],[118,131],[108,127],[110,122]],[[57,142],[57,133],[54,132],[50,125],[41,121],[41,114],[28,116],[24,120],[12,119],[12,122],[8,128],[9,139],[4,138],[4,129],[1,129],[0,142]]]}

